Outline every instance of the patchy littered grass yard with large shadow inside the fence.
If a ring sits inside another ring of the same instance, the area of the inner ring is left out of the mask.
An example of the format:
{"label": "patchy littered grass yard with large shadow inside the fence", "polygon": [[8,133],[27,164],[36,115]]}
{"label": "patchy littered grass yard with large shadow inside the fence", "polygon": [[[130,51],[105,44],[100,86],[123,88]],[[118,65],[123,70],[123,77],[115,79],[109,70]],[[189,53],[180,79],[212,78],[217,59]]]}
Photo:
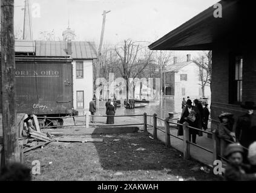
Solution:
{"label": "patchy littered grass yard with large shadow inside the fence", "polygon": [[[92,136],[97,143],[52,142],[25,154],[25,164],[41,163],[33,180],[220,180],[214,174],[192,169],[202,166],[184,160],[182,153],[150,139],[148,133]],[[118,139],[117,141],[115,139]],[[136,151],[145,148],[144,151]],[[191,170],[192,169],[192,170]]]}

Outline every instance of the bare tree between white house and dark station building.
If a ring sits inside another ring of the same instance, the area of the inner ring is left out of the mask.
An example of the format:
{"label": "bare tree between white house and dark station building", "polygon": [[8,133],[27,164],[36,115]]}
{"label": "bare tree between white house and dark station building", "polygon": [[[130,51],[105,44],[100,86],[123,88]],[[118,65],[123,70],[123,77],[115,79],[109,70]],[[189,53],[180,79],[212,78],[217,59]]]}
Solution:
{"label": "bare tree between white house and dark station building", "polygon": [[211,72],[212,72],[212,51],[204,51],[200,54],[199,59],[199,80],[202,87],[202,95],[205,97],[205,86],[211,87]]}

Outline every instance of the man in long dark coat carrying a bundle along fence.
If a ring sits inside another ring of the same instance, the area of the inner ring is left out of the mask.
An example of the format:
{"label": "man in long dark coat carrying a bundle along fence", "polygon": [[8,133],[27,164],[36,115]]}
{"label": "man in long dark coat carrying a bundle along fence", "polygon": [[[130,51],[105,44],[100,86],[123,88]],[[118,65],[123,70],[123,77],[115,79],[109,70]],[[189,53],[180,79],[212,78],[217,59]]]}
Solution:
{"label": "man in long dark coat carrying a bundle along fence", "polygon": [[[186,101],[186,107],[182,109],[182,115],[180,116],[180,124],[184,122],[188,122],[189,126],[200,128],[200,119],[199,119],[199,110],[197,107],[192,106],[192,101]],[[192,142],[196,144],[196,138],[199,131],[189,128],[189,138],[192,136]],[[183,135],[183,127],[182,125],[179,126],[178,136]]]}

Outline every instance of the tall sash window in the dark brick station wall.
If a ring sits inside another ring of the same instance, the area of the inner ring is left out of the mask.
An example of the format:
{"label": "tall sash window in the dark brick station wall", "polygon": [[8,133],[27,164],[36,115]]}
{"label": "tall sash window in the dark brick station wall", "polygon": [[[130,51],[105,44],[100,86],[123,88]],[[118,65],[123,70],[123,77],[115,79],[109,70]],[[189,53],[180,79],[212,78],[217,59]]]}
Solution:
{"label": "tall sash window in the dark brick station wall", "polygon": [[242,103],[243,93],[243,57],[233,55],[230,66],[229,102],[231,104]]}

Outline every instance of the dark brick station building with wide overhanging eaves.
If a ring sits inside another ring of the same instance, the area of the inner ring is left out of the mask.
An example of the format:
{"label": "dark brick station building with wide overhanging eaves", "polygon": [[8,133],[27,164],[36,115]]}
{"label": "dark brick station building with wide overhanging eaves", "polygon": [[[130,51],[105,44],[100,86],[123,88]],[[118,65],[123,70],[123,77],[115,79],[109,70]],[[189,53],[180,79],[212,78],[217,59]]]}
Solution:
{"label": "dark brick station building with wide overhanging eaves", "polygon": [[256,103],[256,36],[252,1],[220,1],[149,45],[153,50],[212,50],[212,129],[221,112],[245,113],[240,104]]}

